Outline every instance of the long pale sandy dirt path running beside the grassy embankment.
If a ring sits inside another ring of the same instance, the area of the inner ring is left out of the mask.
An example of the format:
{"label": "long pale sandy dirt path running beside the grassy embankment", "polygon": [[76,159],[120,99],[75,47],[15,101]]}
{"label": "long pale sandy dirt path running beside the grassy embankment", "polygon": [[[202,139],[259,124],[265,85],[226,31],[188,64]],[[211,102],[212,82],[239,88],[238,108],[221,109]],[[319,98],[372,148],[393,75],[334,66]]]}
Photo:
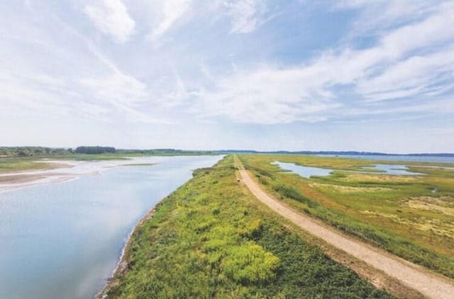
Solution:
{"label": "long pale sandy dirt path running beside the grassy embankment", "polygon": [[240,167],[240,174],[243,177],[243,183],[248,186],[255,197],[279,215],[294,222],[303,230],[310,232],[312,235],[323,239],[328,244],[347,252],[355,258],[365,261],[365,263],[375,269],[379,269],[392,278],[396,278],[405,286],[419,291],[428,298],[454,298],[454,285],[448,281],[448,278],[444,279],[441,276],[430,273],[426,269],[421,269],[420,266],[412,264],[409,261],[392,256],[388,252],[376,249],[368,244],[345,237],[332,228],[324,227],[309,216],[297,213],[269,196],[243,167]]}

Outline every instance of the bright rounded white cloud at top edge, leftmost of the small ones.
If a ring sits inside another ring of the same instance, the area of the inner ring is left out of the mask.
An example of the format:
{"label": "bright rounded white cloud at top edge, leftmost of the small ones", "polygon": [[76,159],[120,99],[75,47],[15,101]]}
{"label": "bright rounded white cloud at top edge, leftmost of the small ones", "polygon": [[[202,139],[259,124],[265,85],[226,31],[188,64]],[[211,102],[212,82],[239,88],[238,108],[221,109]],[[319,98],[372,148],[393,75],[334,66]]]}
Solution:
{"label": "bright rounded white cloud at top edge, leftmost of the small ones", "polygon": [[85,12],[98,30],[118,43],[125,43],[134,31],[135,22],[121,0],[96,0]]}

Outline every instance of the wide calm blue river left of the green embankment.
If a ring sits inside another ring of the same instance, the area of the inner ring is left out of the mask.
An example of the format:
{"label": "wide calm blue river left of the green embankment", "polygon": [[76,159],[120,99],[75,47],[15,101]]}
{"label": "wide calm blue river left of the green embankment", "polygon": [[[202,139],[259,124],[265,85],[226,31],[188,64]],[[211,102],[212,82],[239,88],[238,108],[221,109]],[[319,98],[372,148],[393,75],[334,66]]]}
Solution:
{"label": "wide calm blue river left of the green embankment", "polygon": [[64,184],[0,193],[0,298],[92,298],[136,222],[217,157],[155,157]]}

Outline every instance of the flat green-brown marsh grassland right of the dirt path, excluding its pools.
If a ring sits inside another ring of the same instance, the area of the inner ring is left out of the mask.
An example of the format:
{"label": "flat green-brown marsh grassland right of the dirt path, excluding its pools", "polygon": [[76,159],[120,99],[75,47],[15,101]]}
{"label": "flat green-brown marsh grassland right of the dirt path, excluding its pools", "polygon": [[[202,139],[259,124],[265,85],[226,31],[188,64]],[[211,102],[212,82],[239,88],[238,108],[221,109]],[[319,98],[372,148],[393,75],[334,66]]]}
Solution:
{"label": "flat green-brown marsh grassland right of the dirt path, excluding its pools", "polygon": [[[267,191],[294,208],[454,278],[454,170],[421,167],[425,163],[420,162],[381,162],[406,164],[426,174],[389,176],[343,171],[375,164],[360,159],[303,155],[241,155],[240,159]],[[271,164],[274,161],[336,171],[304,179],[282,172]]]}

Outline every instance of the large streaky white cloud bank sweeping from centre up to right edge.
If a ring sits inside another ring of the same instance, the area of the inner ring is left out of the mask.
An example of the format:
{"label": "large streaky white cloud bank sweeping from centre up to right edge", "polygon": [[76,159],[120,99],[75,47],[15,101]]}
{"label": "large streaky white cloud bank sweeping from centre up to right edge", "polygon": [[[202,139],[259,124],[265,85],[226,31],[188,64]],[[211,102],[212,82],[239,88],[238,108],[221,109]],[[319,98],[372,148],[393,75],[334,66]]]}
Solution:
{"label": "large streaky white cloud bank sweeping from centre up to right edge", "polygon": [[447,30],[454,28],[453,14],[454,6],[439,6],[426,18],[381,33],[376,45],[362,50],[331,50],[299,66],[261,66],[218,76],[192,94],[198,101],[194,111],[242,123],[313,122],[342,117],[336,111],[348,115],[352,101],[338,92],[347,88],[359,96],[362,115],[368,101],[409,96],[416,106],[401,112],[421,113],[421,98],[453,87],[454,31]]}

